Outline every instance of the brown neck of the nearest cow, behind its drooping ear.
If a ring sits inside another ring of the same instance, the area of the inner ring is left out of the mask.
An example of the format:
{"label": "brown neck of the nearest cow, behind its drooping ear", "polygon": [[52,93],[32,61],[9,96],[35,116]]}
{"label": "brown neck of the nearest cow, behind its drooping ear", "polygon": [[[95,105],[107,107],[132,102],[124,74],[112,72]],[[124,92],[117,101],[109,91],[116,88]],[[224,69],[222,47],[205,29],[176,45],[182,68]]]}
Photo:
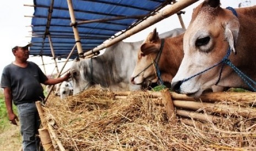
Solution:
{"label": "brown neck of the nearest cow, behind its drooping ear", "polygon": [[256,74],[252,68],[256,68],[256,6],[237,9],[240,23],[239,36],[237,40],[237,54],[231,54],[231,62],[256,80]]}

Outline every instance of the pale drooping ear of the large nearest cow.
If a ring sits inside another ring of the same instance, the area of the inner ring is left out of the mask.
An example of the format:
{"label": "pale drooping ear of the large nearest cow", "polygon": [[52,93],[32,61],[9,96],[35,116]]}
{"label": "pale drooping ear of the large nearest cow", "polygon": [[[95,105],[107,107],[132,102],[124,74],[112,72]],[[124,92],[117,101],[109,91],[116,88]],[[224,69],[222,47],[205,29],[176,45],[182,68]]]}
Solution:
{"label": "pale drooping ear of the large nearest cow", "polygon": [[234,18],[225,23],[225,38],[230,46],[230,49],[236,54],[236,43],[237,37],[239,34],[239,21],[237,18]]}

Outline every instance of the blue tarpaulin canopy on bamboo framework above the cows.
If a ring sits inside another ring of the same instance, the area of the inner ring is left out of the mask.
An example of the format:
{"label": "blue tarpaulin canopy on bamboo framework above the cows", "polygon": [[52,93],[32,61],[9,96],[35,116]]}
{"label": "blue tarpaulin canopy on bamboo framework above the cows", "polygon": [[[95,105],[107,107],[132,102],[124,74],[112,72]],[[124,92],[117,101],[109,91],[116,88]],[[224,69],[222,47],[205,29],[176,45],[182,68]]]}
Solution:
{"label": "blue tarpaulin canopy on bamboo framework above the cows", "polygon": [[[73,9],[83,52],[94,49],[105,40],[118,36],[156,11],[170,4],[166,0],[73,0]],[[75,45],[65,0],[34,0],[32,47],[30,55],[51,56],[50,40],[56,57],[67,58]],[[115,18],[115,20],[113,20]],[[49,40],[50,36],[50,40]],[[74,59],[78,51],[71,56]]]}

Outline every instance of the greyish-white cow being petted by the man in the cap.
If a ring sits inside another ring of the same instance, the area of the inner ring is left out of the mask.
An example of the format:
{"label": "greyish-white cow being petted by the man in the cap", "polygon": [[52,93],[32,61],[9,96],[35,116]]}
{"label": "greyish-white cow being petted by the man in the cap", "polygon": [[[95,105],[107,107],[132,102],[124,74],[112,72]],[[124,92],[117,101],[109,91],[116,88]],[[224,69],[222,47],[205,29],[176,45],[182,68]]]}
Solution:
{"label": "greyish-white cow being petted by the man in the cap", "polygon": [[[182,28],[177,28],[160,34],[160,37],[177,36],[182,32],[184,32]],[[133,43],[119,42],[107,48],[100,56],[74,60],[70,67],[74,86],[73,94],[95,85],[109,88],[111,91],[141,90],[141,85],[130,82],[141,43],[143,43],[142,40]]]}

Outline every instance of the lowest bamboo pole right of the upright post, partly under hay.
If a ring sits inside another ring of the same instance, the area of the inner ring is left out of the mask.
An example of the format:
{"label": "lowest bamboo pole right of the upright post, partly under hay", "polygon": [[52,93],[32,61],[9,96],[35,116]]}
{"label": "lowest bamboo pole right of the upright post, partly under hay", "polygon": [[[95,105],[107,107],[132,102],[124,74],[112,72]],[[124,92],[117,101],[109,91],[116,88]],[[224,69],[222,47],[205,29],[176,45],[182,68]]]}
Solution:
{"label": "lowest bamboo pole right of the upright post, partly under hay", "polygon": [[177,109],[176,114],[186,118],[197,119],[201,121],[210,121],[211,123],[220,123],[227,120],[226,118],[217,117],[214,115],[202,114],[181,109]]}

